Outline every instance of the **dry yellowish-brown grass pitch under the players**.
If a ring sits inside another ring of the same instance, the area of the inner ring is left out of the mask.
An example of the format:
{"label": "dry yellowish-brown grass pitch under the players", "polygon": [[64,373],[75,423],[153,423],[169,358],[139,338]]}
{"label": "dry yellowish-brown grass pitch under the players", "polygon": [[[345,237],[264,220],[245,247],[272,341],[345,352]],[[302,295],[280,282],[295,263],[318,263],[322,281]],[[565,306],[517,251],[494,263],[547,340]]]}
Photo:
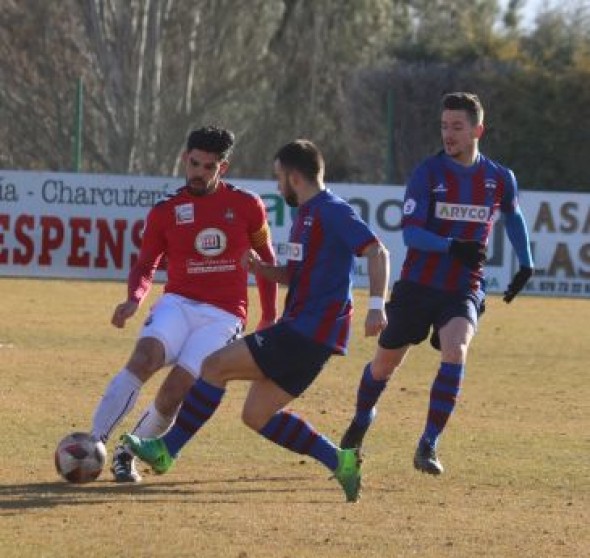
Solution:
{"label": "dry yellowish-brown grass pitch under the players", "polygon": [[[440,478],[412,467],[438,365],[427,344],[413,349],[382,397],[352,505],[322,466],[240,423],[243,384],[169,474],[146,472],[139,486],[116,485],[108,471],[89,485],[61,481],[56,443],[88,430],[147,310],[116,330],[123,296],[120,283],[0,279],[0,556],[590,555],[589,300],[489,297]],[[349,356],[293,405],[335,440],[375,346],[361,335],[364,291],[356,298]]]}

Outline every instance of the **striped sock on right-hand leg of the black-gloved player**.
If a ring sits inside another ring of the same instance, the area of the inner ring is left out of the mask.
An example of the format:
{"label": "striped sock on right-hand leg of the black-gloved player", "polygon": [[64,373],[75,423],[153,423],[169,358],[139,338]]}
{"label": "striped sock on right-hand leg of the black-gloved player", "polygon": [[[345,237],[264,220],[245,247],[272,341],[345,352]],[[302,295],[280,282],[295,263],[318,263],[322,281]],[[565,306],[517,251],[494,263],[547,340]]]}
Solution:
{"label": "striped sock on right-hand leg of the black-gloved player", "polygon": [[430,390],[430,405],[422,441],[435,447],[444,430],[461,391],[465,375],[463,364],[442,362]]}

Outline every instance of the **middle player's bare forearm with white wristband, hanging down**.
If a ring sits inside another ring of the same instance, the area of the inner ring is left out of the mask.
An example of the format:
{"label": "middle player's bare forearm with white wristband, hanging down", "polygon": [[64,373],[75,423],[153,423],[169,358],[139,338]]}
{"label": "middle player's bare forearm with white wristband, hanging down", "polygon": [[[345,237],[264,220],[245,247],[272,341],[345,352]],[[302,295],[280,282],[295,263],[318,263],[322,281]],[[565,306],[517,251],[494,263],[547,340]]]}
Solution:
{"label": "middle player's bare forearm with white wristband, hanging down", "polygon": [[365,337],[378,335],[387,325],[385,297],[389,286],[389,251],[379,242],[369,244],[362,255],[367,258],[369,306],[365,318]]}

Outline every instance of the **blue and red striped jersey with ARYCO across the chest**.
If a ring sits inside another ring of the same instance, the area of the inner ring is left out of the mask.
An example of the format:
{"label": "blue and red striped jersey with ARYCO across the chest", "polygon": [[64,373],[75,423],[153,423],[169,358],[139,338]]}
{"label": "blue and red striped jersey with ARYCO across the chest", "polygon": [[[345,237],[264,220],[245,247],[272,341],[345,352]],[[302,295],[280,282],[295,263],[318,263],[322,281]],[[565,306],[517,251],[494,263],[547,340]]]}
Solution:
{"label": "blue and red striped jersey with ARYCO across the chest", "polygon": [[[481,153],[464,167],[444,151],[412,173],[404,200],[402,227],[422,227],[444,238],[487,244],[498,212],[518,207],[513,172]],[[484,288],[483,267],[470,270],[448,253],[409,247],[401,278],[446,291]]]}

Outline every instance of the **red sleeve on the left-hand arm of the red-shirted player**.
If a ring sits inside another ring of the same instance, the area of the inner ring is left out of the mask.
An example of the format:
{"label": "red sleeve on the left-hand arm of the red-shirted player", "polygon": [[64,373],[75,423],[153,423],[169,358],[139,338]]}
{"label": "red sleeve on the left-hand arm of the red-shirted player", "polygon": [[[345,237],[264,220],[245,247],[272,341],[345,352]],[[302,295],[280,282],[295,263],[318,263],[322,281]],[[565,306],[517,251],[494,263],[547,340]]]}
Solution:
{"label": "red sleeve on the left-hand arm of the red-shirted player", "polygon": [[165,239],[161,228],[161,216],[154,209],[147,217],[141,248],[135,265],[127,279],[127,297],[141,304],[148,295],[154,274],[165,251]]}

